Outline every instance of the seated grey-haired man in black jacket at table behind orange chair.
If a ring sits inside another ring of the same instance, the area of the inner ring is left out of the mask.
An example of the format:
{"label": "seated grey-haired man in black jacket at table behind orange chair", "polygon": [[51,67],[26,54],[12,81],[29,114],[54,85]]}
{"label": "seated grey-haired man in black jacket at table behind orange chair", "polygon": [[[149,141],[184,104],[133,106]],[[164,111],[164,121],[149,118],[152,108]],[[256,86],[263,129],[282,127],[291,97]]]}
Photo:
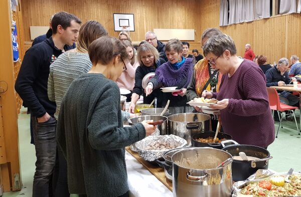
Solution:
{"label": "seated grey-haired man in black jacket at table behind orange chair", "polygon": [[[290,84],[290,82],[296,81],[295,78],[290,80],[287,70],[288,60],[286,58],[281,58],[278,61],[277,66],[274,66],[266,71],[266,86],[283,86],[284,84]],[[297,106],[299,99],[295,95],[291,94],[288,91],[278,91],[278,94],[281,103],[290,106]]]}

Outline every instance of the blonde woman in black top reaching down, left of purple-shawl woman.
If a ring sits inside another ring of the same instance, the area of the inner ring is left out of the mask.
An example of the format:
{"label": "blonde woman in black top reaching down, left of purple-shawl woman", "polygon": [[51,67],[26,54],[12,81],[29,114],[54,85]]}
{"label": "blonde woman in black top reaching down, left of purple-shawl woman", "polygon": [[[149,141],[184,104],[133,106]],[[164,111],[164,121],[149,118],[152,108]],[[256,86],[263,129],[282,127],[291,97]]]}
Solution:
{"label": "blonde woman in black top reaching down, left of purple-shawl woman", "polygon": [[135,104],[141,95],[143,95],[144,104],[150,104],[154,98],[157,97],[157,106],[162,106],[162,92],[160,89],[146,97],[142,87],[142,79],[146,74],[155,72],[163,63],[165,63],[165,60],[159,58],[159,52],[153,45],[145,42],[142,43],[137,50],[137,61],[140,66],[137,67],[135,73],[135,85],[132,91],[130,106],[128,108],[130,113],[134,113]]}

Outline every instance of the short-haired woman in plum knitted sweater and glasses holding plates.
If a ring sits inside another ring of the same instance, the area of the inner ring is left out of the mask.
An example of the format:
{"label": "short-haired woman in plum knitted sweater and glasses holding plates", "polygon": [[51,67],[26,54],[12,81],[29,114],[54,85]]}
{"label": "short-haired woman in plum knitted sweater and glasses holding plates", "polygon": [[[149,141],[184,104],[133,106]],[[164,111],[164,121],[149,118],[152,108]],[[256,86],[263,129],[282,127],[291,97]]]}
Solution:
{"label": "short-haired woman in plum knitted sweater and glasses holding plates", "polygon": [[266,148],[274,141],[275,128],[262,70],[239,59],[234,41],[225,34],[209,39],[204,55],[223,74],[219,92],[204,91],[202,96],[219,100],[211,108],[221,110],[224,132],[240,144]]}

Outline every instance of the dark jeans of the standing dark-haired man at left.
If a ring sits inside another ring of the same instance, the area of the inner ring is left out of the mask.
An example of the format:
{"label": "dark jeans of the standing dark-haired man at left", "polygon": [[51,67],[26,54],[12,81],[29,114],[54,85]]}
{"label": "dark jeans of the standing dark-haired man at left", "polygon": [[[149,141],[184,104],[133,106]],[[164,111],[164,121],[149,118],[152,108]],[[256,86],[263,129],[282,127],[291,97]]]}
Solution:
{"label": "dark jeans of the standing dark-haired man at left", "polygon": [[32,117],[36,149],[36,172],[34,175],[33,197],[49,197],[52,194],[52,175],[56,158],[56,124],[55,118],[38,123]]}

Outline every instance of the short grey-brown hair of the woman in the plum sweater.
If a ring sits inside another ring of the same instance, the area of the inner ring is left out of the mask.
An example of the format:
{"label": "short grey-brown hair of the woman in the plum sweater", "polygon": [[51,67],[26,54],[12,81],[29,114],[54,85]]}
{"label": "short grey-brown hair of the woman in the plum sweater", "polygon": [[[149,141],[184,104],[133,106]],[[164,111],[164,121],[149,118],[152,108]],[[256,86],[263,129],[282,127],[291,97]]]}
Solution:
{"label": "short grey-brown hair of the woman in the plum sweater", "polygon": [[212,53],[216,56],[221,56],[225,50],[229,50],[231,55],[236,54],[235,43],[232,38],[226,34],[221,34],[210,38],[204,48],[204,55]]}

